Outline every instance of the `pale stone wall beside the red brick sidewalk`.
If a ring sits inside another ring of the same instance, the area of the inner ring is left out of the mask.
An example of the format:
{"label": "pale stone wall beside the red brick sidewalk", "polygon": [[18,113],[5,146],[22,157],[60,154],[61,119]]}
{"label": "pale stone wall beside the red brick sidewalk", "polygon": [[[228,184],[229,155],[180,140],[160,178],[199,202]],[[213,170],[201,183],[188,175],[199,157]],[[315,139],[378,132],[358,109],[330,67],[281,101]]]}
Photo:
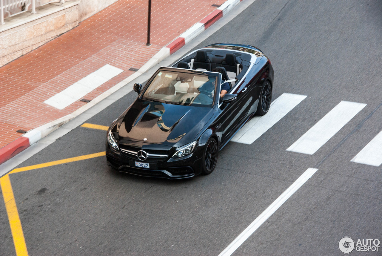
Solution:
{"label": "pale stone wall beside the red brick sidewalk", "polygon": [[0,25],[0,67],[69,31],[117,0],[52,3],[6,18]]}

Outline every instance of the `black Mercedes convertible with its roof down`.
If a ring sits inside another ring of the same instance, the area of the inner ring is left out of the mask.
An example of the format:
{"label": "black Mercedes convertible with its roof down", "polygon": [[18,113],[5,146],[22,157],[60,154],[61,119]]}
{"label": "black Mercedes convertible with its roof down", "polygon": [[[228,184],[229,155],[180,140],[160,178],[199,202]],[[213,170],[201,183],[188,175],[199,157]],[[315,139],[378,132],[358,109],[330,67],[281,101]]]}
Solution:
{"label": "black Mercedes convertible with its roof down", "polygon": [[241,44],[208,45],[159,68],[134,84],[137,99],[107,131],[107,164],[169,179],[211,173],[244,123],[268,112],[273,76],[264,53]]}

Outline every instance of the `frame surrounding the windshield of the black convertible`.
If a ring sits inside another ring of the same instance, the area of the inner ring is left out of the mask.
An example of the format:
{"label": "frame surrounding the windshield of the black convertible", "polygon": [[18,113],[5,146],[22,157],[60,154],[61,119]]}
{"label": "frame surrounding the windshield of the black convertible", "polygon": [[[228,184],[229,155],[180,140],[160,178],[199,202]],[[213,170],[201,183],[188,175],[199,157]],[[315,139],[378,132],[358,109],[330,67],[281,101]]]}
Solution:
{"label": "frame surrounding the windshield of the black convertible", "polygon": [[220,87],[221,87],[221,80],[222,80],[222,75],[220,73],[210,72],[210,71],[188,70],[188,69],[184,69],[184,68],[171,68],[171,67],[160,67],[154,73],[154,75],[151,76],[151,78],[147,81],[147,83],[143,86],[141,92],[139,92],[138,98],[144,99],[144,100],[155,101],[155,102],[161,102],[164,104],[184,105],[184,104],[177,104],[176,102],[168,102],[167,100],[152,99],[152,98],[144,97],[145,92],[150,87],[150,84],[154,81],[154,79],[158,75],[158,73],[159,72],[166,72],[166,71],[177,72],[177,73],[187,73],[189,75],[214,76],[215,77],[215,93],[214,93],[214,98],[213,98],[212,104],[211,105],[190,104],[188,106],[213,107],[214,105],[219,103]]}

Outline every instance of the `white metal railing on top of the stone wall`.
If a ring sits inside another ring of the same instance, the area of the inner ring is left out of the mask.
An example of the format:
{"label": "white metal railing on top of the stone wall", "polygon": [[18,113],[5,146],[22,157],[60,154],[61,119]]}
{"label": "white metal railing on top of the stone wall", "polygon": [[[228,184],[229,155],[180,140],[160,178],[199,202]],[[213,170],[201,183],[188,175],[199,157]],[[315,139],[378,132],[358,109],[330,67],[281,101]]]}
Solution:
{"label": "white metal railing on top of the stone wall", "polygon": [[36,13],[36,7],[49,3],[65,2],[65,0],[0,0],[0,24],[4,24],[4,18],[15,16],[26,11]]}

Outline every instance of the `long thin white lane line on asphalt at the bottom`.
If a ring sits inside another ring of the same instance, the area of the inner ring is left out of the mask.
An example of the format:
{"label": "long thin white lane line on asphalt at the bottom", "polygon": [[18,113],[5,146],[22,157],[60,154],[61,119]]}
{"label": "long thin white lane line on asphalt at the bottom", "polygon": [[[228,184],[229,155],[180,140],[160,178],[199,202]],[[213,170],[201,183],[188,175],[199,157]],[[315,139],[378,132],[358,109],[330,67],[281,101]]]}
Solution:
{"label": "long thin white lane line on asphalt at the bottom", "polygon": [[219,256],[230,256],[237,248],[240,247],[265,220],[267,220],[288,198],[291,197],[318,169],[309,168],[306,170],[290,187],[284,191],[262,214],[259,215],[241,234],[236,237],[227,248],[219,254]]}

